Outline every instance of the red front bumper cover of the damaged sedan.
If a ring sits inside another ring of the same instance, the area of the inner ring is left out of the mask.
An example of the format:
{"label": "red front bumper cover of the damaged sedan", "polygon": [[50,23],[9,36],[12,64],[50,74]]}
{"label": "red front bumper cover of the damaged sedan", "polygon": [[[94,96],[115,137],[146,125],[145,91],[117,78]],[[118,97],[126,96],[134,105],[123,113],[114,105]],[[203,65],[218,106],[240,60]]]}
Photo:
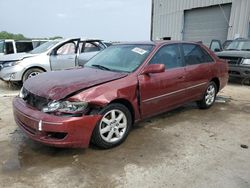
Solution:
{"label": "red front bumper cover of the damaged sedan", "polygon": [[28,106],[21,98],[13,100],[18,126],[33,140],[55,147],[87,148],[100,115],[61,117]]}

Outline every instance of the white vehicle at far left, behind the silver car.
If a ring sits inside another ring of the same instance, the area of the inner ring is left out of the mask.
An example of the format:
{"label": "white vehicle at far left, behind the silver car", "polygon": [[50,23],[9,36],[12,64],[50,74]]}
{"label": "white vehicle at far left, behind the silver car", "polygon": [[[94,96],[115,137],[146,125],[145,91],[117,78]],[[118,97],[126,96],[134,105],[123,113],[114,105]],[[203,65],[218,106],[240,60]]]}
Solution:
{"label": "white vehicle at far left, behind the silver car", "polygon": [[0,40],[0,55],[29,52],[49,40]]}

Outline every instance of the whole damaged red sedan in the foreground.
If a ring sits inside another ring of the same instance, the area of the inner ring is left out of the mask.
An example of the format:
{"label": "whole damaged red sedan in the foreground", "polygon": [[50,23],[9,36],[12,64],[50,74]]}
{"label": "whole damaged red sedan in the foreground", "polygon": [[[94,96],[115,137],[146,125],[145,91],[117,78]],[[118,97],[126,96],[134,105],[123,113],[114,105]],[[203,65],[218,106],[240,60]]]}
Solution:
{"label": "whole damaged red sedan in the foreground", "polygon": [[210,108],[228,81],[228,65],[188,42],[125,43],[83,69],[27,80],[14,98],[16,123],[33,140],[57,147],[121,144],[139,120],[197,101]]}

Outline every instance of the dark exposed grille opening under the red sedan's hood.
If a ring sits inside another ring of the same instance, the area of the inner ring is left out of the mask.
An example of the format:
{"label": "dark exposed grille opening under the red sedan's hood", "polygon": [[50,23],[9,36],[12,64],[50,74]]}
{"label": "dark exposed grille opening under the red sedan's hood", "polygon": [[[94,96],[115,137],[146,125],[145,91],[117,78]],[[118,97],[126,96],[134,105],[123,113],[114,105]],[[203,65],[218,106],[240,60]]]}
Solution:
{"label": "dark exposed grille opening under the red sedan's hood", "polygon": [[33,93],[30,93],[29,91],[25,90],[25,97],[24,100],[32,107],[42,110],[43,107],[45,107],[49,100],[40,96],[37,96]]}

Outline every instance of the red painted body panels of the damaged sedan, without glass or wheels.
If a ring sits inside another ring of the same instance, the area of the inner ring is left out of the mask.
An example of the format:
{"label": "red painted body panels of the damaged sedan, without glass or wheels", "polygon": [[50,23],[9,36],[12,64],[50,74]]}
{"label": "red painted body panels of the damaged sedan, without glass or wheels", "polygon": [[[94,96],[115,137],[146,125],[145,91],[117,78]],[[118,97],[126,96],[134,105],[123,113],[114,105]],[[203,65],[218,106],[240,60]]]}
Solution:
{"label": "red painted body panels of the damaged sedan, without glass or wheels", "polygon": [[[219,80],[220,89],[227,84],[227,63],[203,45],[201,47],[212,56],[213,63],[165,71],[163,65],[148,66],[155,52],[169,43],[179,42],[143,43],[154,44],[155,48],[144,63],[130,74],[92,68],[66,70],[42,74],[25,82],[24,87],[33,94],[48,99],[86,101],[99,107],[105,107],[117,100],[126,101],[133,108],[134,120],[139,121],[186,102],[200,100],[212,79]],[[152,74],[150,71],[158,73]],[[200,86],[192,88],[195,85]],[[14,99],[13,108],[17,124],[30,138],[57,147],[88,147],[92,131],[101,119],[100,115],[48,115],[28,106],[19,97]],[[40,120],[43,122],[42,131],[38,131]],[[35,133],[30,133],[29,128]],[[47,138],[46,132],[63,132],[67,133],[67,136],[63,140],[55,140]]]}

